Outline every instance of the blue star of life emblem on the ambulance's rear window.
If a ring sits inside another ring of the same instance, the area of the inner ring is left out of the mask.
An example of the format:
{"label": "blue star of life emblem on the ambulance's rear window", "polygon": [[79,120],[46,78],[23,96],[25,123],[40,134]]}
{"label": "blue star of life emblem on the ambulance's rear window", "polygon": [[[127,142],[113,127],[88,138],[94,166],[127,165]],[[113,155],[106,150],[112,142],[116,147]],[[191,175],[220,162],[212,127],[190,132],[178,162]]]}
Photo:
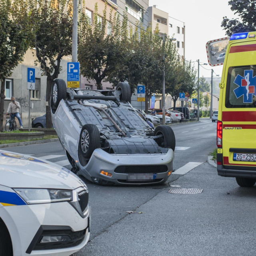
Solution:
{"label": "blue star of life emblem on the ambulance's rear window", "polygon": [[236,98],[244,96],[244,103],[252,103],[252,95],[256,96],[256,76],[253,76],[253,70],[244,70],[244,77],[237,75],[234,84],[238,85],[234,90]]}

